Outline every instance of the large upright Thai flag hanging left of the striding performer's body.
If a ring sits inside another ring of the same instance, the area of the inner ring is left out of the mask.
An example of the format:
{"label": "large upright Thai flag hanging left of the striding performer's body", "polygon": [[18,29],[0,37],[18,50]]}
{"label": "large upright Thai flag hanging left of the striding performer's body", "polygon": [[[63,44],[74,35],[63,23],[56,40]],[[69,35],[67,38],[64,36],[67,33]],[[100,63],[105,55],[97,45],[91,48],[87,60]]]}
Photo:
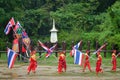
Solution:
{"label": "large upright Thai flag hanging left of the striding performer's body", "polygon": [[84,54],[79,50],[75,49],[74,64],[82,65],[83,59],[84,59]]}

